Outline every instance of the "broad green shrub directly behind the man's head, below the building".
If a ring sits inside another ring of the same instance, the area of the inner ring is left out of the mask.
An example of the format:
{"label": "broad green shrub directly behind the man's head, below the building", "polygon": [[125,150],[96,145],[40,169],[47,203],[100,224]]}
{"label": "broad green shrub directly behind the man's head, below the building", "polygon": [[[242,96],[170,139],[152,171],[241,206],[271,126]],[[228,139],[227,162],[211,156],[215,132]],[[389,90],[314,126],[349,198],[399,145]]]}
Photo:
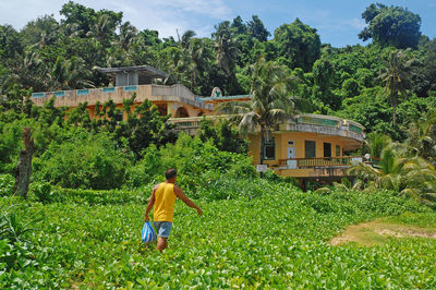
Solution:
{"label": "broad green shrub directly behind the man's head, below the building", "polygon": [[168,168],[178,169],[178,183],[195,193],[205,180],[249,179],[256,177],[251,158],[243,154],[221,152],[211,142],[181,133],[175,144],[158,149],[152,145],[143,152],[144,158],[128,171],[128,186],[165,180]]}

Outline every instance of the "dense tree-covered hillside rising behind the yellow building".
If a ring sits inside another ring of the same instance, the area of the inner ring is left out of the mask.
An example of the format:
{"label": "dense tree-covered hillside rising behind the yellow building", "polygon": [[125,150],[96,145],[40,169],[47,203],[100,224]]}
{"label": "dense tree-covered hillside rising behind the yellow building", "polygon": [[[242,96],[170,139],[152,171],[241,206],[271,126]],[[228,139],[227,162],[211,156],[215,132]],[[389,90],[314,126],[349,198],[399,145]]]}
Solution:
{"label": "dense tree-covered hillside rising behind the yellow building", "polygon": [[[3,99],[20,99],[20,89],[108,86],[111,80],[96,68],[140,64],[168,72],[165,84],[182,83],[202,96],[216,86],[225,95],[250,94],[250,67],[263,57],[300,78],[299,95],[312,105],[306,111],[352,119],[397,141],[436,101],[436,40],[421,35],[421,17],[400,7],[370,5],[360,37],[372,44],[343,48],[322,44],[316,29],[298,19],[272,33],[256,15],[238,16],[218,23],[210,37],[187,31],[174,39],[138,31],[122,12],[71,1],[60,14],[59,22],[45,15],[20,32],[0,26]],[[393,72],[401,82],[389,81]]]}

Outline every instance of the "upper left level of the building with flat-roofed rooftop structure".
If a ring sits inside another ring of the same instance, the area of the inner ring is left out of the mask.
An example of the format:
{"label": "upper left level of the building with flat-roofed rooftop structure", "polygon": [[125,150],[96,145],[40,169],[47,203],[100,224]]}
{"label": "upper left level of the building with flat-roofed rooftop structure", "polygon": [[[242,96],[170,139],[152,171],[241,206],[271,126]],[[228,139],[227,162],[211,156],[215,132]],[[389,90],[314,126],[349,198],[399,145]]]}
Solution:
{"label": "upper left level of the building with flat-roofed rooftop structure", "polygon": [[135,102],[148,99],[158,106],[162,114],[174,117],[199,116],[214,110],[214,104],[204,101],[181,84],[172,86],[152,84],[155,78],[167,78],[168,74],[149,65],[99,68],[114,81],[114,87],[85,88],[73,90],[34,93],[33,101],[43,106],[45,101],[56,97],[56,107],[77,107],[87,102],[92,108],[97,102],[113,100],[121,106],[123,99],[131,98],[136,93]]}

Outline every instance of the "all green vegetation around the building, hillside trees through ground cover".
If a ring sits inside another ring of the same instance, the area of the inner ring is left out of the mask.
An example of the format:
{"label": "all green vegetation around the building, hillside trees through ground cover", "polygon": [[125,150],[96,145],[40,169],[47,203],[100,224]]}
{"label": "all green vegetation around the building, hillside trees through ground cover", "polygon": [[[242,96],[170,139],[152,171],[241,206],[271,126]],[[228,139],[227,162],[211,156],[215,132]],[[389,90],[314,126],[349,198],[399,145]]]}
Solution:
{"label": "all green vegetation around the building, hillside trees through ground cover", "polygon": [[[0,25],[1,288],[436,287],[434,240],[328,243],[350,223],[386,216],[434,227],[436,39],[421,35],[419,15],[372,4],[359,35],[372,43],[335,48],[298,19],[271,34],[258,16],[238,16],[209,38],[187,31],[175,39],[137,31],[122,12],[69,2],[60,13],[60,22],[46,15],[20,32]],[[261,179],[230,121],[204,120],[192,137],[150,101],[131,110],[134,94],[123,111],[100,104],[96,119],[86,104],[70,111],[53,99],[32,104],[33,92],[113,85],[97,68],[141,64],[197,95],[218,86],[261,100],[253,84],[270,87],[265,72],[278,69],[292,81],[294,113],[360,122],[367,137],[359,154],[379,166],[361,164],[351,169],[355,180],[303,193],[271,171]],[[12,195],[25,128],[35,152],[23,201]],[[178,204],[170,247],[159,255],[140,231],[169,167],[205,215]]]}

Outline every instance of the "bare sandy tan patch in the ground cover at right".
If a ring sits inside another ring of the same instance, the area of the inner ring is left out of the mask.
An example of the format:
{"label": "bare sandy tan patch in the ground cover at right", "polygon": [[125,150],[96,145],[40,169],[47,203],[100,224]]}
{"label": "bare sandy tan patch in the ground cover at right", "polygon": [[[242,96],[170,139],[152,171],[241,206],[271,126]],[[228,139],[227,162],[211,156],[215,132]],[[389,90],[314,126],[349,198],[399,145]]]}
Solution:
{"label": "bare sandy tan patch in the ground cover at right", "polygon": [[410,237],[436,239],[436,230],[410,225],[390,223],[377,219],[348,227],[340,235],[334,238],[330,244],[341,245],[354,242],[362,245],[376,245],[386,243],[389,238]]}

